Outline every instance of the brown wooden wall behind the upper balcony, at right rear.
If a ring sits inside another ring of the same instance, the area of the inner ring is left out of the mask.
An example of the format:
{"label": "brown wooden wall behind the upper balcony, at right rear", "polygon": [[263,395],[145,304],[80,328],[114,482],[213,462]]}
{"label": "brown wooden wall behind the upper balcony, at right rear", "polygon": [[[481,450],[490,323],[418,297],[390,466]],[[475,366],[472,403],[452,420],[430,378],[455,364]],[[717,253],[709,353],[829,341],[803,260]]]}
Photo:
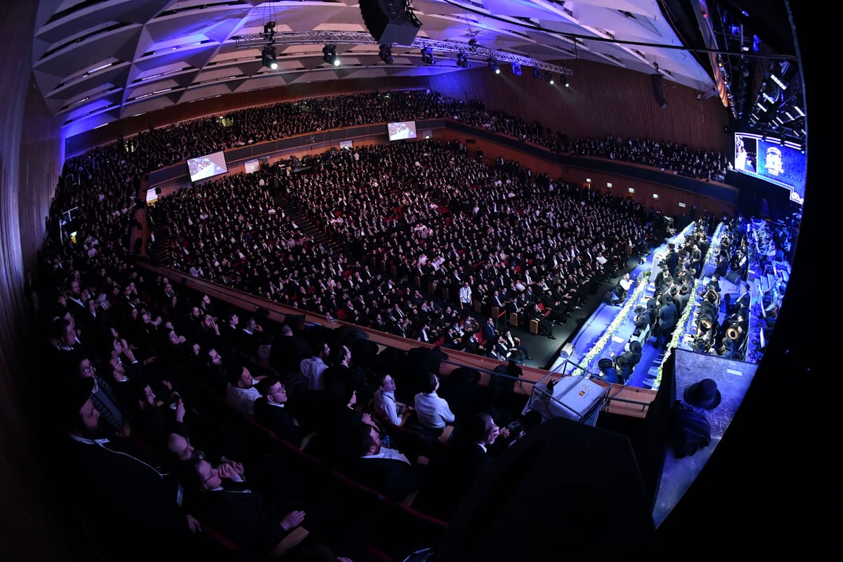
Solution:
{"label": "brown wooden wall behind the upper balcony, at right rear", "polygon": [[668,106],[661,109],[647,74],[584,61],[575,62],[573,71],[570,88],[533,78],[527,68],[513,76],[507,67],[498,75],[486,67],[440,74],[430,87],[466,102],[479,99],[487,110],[506,108],[572,139],[640,137],[732,153],[733,138],[725,132],[729,113],[716,97],[696,99],[701,93],[665,78]]}

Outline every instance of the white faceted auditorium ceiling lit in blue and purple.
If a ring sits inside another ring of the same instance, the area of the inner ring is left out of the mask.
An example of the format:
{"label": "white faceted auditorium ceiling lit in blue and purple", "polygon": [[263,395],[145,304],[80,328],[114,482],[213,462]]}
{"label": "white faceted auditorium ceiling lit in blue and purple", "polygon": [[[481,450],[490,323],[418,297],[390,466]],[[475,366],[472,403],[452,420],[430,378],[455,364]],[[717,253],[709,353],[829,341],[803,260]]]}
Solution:
{"label": "white faceted auditorium ceiling lit in blue and purple", "polygon": [[[461,72],[460,56],[473,68],[489,66],[491,56],[502,72],[520,62],[524,77],[534,67],[543,76],[575,74],[579,60],[659,72],[720,97],[738,121],[749,120],[763,88],[782,110],[802,102],[792,94],[801,88],[786,94],[766,79],[772,62],[795,61],[789,24],[781,27],[782,0],[367,2],[392,10],[379,35],[397,38],[390,53],[381,51],[373,36],[380,32],[368,29],[371,19],[364,21],[353,0],[41,0],[33,72],[51,113],[71,134],[258,88]],[[325,60],[325,45],[336,45],[339,66]],[[265,64],[267,46],[274,47],[276,69]],[[435,62],[422,56],[424,47]],[[787,79],[795,68],[788,67]],[[779,111],[756,113],[770,120]],[[790,114],[795,134],[800,116],[792,108]]]}

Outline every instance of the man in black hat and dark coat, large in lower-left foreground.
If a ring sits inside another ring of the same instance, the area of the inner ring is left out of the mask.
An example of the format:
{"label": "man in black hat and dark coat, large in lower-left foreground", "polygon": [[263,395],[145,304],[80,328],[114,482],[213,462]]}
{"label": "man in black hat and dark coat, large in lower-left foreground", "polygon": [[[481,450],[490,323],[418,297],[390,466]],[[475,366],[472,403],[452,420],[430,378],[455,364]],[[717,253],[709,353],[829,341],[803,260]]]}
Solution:
{"label": "man in black hat and dark coat, large in lower-left foreground", "polygon": [[200,528],[180,510],[180,487],[132,440],[118,448],[105,439],[93,387],[92,378],[74,380],[59,402],[69,437],[63,458],[72,468],[72,481],[63,488],[72,493],[103,559],[188,554],[195,546],[191,535]]}

